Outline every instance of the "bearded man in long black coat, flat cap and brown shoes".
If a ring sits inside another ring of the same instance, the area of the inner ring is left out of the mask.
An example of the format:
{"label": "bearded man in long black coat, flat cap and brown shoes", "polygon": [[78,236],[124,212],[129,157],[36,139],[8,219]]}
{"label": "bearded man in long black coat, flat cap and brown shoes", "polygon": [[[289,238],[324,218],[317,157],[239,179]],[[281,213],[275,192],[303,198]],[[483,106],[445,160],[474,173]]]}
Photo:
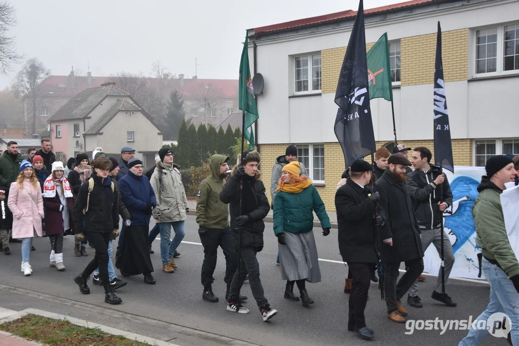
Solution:
{"label": "bearded man in long black coat, flat cap and brown shoes", "polygon": [[[394,322],[404,323],[402,315],[407,315],[407,311],[400,299],[424,270],[424,251],[413,202],[405,186],[405,172],[411,162],[400,154],[393,154],[388,164],[386,172],[376,183],[376,190],[380,193],[380,216],[385,221],[385,225],[380,227],[380,253],[386,265],[384,294],[388,317]],[[408,270],[397,284],[401,262],[405,262]]]}

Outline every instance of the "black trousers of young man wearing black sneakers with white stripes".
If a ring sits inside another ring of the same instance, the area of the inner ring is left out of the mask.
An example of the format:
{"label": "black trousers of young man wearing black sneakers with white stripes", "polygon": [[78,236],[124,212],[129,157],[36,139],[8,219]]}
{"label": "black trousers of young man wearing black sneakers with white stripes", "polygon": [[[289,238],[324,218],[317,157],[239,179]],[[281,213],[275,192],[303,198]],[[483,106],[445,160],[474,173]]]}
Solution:
{"label": "black trousers of young man wearing black sneakers with white stripes", "polygon": [[258,307],[268,304],[267,298],[263,292],[263,286],[260,280],[260,264],[256,259],[256,247],[244,246],[241,248],[240,274],[234,274],[233,282],[230,284],[228,300],[239,303],[240,289],[243,286],[245,277],[249,274],[249,284],[251,285],[252,295],[256,299]]}

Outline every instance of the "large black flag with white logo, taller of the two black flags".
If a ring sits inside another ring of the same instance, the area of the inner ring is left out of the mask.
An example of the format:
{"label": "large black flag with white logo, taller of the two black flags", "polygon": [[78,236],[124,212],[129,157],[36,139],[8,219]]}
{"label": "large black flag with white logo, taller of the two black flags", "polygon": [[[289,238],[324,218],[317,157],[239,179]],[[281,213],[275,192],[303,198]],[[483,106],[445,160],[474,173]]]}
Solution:
{"label": "large black flag with white logo, taller of the two black flags", "polygon": [[353,23],[350,40],[340,69],[335,103],[335,135],[343,148],[346,168],[376,151],[368,93],[366,36],[362,0]]}

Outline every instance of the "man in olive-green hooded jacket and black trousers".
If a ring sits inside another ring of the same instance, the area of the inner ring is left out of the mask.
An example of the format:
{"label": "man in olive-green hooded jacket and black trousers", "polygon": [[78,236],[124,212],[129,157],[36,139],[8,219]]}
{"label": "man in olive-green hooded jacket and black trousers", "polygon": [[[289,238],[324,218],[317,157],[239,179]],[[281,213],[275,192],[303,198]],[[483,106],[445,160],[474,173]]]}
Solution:
{"label": "man in olive-green hooded jacket and black trousers", "polygon": [[[209,159],[211,174],[198,187],[196,200],[196,222],[199,225],[198,234],[203,245],[202,264],[202,299],[215,303],[218,301],[213,293],[213,273],[216,267],[218,246],[225,255],[225,278],[227,285],[225,299],[229,295],[230,284],[233,281],[237,267],[234,249],[233,233],[229,227],[229,206],[220,200],[220,192],[227,177],[229,158],[224,155],[213,155]],[[247,297],[240,297],[240,301]]]}

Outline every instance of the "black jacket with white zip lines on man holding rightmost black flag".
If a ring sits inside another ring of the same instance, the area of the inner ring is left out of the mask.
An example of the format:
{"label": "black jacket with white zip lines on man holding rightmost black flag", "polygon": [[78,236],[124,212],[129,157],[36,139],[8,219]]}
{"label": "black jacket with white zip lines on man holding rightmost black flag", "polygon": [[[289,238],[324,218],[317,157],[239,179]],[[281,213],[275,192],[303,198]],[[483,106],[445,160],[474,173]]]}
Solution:
{"label": "black jacket with white zip lines on man holding rightmost black flag", "polygon": [[450,191],[447,178],[441,186],[433,183],[440,174],[440,167],[435,164],[431,164],[431,170],[427,173],[414,170],[407,174],[407,190],[413,199],[415,215],[422,230],[441,227],[443,213],[438,205],[441,189],[443,202],[447,203],[447,207],[453,204],[453,193]]}

